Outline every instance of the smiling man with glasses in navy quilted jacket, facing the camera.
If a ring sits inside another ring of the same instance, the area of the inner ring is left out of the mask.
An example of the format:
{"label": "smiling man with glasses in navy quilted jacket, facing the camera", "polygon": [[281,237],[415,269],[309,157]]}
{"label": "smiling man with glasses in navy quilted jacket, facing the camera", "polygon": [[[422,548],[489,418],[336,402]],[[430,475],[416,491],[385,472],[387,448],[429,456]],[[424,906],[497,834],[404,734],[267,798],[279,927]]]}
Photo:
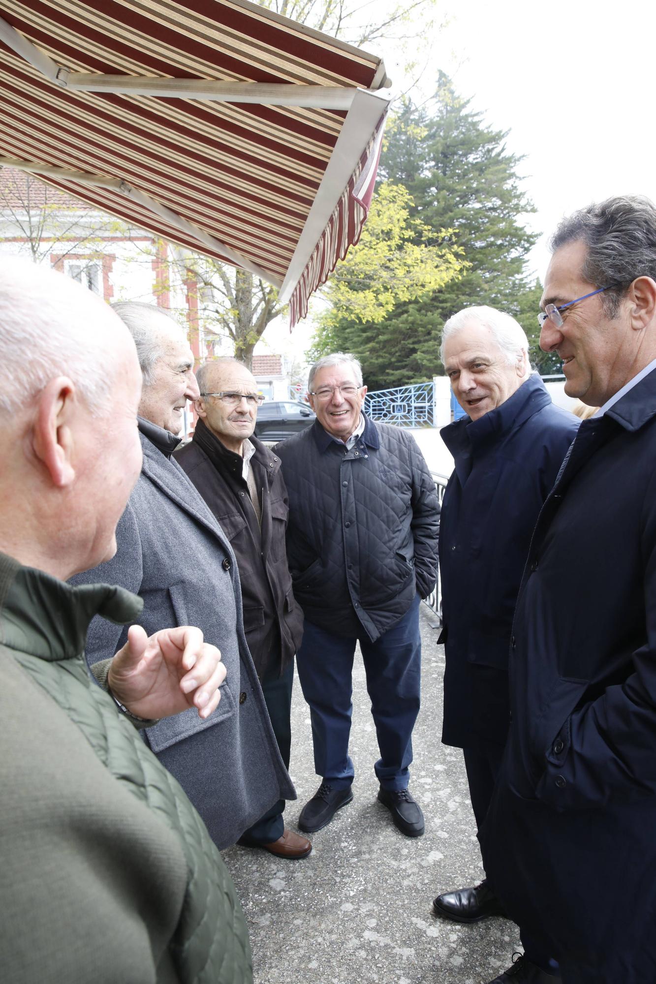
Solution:
{"label": "smiling man with glasses in navy quilted jacket, facing the camera", "polygon": [[408,782],[420,708],[419,603],[437,572],[435,487],[408,431],[362,413],[366,387],[353,355],[316,362],[308,390],[314,424],[275,449],[290,496],[294,594],[305,618],[296,663],[321,776],[298,826],[321,830],[353,799],[349,733],[360,643],[380,750],[378,800],[399,830],[417,837],[424,817]]}

